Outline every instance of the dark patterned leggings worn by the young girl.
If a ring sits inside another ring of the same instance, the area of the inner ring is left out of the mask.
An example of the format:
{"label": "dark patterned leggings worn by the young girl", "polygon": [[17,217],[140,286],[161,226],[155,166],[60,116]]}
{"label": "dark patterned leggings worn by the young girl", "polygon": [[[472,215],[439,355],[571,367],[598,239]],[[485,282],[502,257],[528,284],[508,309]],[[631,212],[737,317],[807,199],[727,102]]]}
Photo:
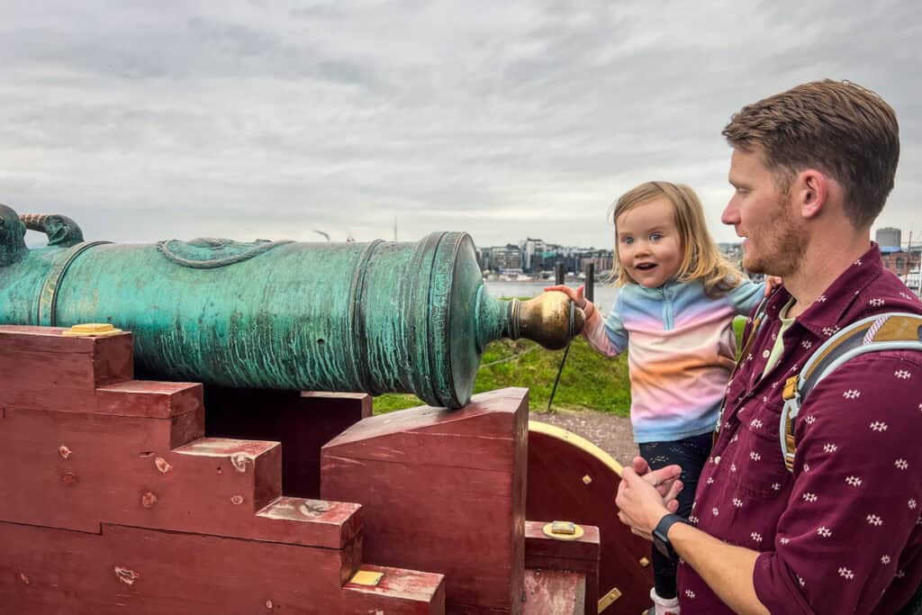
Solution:
{"label": "dark patterned leggings worn by the young girl", "polygon": [[[686,519],[691,514],[694,491],[698,488],[698,477],[711,453],[711,433],[691,436],[674,442],[644,442],[637,444],[640,455],[653,469],[678,464],[682,467],[682,491],[679,493],[679,514]],[[653,548],[653,585],[659,597],[676,597],[676,568],[679,562],[669,560]]]}

